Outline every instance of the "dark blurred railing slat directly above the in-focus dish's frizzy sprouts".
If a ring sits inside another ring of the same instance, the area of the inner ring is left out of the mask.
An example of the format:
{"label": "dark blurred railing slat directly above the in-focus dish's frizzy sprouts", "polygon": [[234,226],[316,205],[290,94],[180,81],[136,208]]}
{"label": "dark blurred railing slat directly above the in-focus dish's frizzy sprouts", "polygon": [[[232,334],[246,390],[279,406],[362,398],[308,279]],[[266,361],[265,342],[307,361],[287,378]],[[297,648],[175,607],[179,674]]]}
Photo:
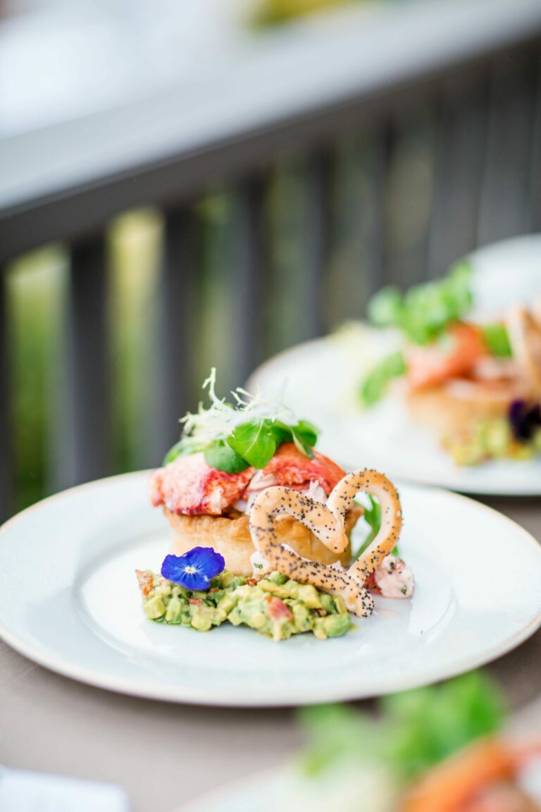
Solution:
{"label": "dark blurred railing slat directly above the in-focus dish's frizzy sprouts", "polygon": [[232,359],[237,385],[242,385],[261,361],[264,344],[261,302],[267,283],[264,233],[263,176],[247,179],[238,188],[234,220],[231,285],[236,319],[232,325],[237,352]]}

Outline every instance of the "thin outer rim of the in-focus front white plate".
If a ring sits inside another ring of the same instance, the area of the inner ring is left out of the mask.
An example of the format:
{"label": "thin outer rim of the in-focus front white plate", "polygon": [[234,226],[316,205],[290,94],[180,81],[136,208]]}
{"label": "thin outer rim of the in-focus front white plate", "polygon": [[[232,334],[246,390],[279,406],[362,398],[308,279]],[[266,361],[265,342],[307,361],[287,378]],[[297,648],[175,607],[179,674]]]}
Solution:
{"label": "thin outer rim of the in-focus front white plate", "polygon": [[[115,474],[110,477],[92,480],[91,482],[84,482],[81,485],[73,486],[66,490],[59,491],[57,494],[48,496],[45,499],[41,499],[39,502],[36,502],[30,507],[25,508],[23,511],[15,514],[15,516],[12,516],[11,519],[8,519],[2,526],[0,526],[0,542],[6,533],[11,530],[11,528],[18,523],[19,520],[24,519],[24,517],[28,516],[30,512],[36,512],[44,504],[50,504],[59,501],[59,499],[67,498],[75,491],[79,492],[80,490],[90,490],[92,488],[96,488],[97,486],[102,486],[104,483],[117,482],[121,479],[133,478],[135,480],[136,478],[142,478],[143,475],[147,473],[148,469]],[[476,510],[495,515],[498,520],[503,521],[505,525],[509,525],[513,529],[513,532],[520,531],[522,537],[535,548],[535,554],[541,556],[541,543],[537,541],[532,533],[526,530],[526,528],[522,527],[522,525],[519,525],[509,516],[505,516],[504,513],[496,510],[496,508],[492,508],[476,499],[471,499],[469,496],[458,494],[453,490],[447,490],[441,487],[419,485],[418,483],[410,482],[404,484],[406,489],[417,491],[429,490],[434,494],[444,496],[445,499],[457,501],[464,500],[466,503],[471,503]],[[156,685],[152,685],[152,682],[149,682],[148,680],[140,680],[138,678],[119,678],[117,676],[107,675],[106,672],[104,673],[97,670],[94,671],[86,667],[81,667],[71,660],[58,657],[58,655],[55,655],[50,649],[42,653],[39,646],[34,646],[31,642],[24,640],[24,638],[19,634],[11,632],[10,628],[8,628],[6,624],[2,622],[2,620],[0,620],[0,637],[7,643],[8,646],[11,646],[11,648],[13,648],[19,654],[22,654],[27,659],[30,659],[33,663],[36,663],[41,667],[45,667],[49,671],[59,674],[60,676],[67,677],[85,685],[91,685],[93,688],[105,689],[112,691],[113,693],[124,694],[127,696],[185,705],[270,708],[317,705],[322,702],[349,702],[360,699],[374,698],[376,696],[384,696],[389,693],[396,693],[397,691],[409,690],[422,685],[430,685],[434,682],[447,680],[453,676],[457,676],[458,674],[468,672],[476,667],[481,667],[487,663],[492,663],[495,659],[499,659],[505,654],[508,654],[509,651],[517,648],[517,646],[520,646],[524,641],[531,637],[540,627],[541,605],[539,606],[537,615],[535,615],[535,617],[531,619],[523,628],[519,629],[516,633],[509,637],[509,639],[507,639],[504,643],[492,646],[492,648],[484,652],[481,657],[473,654],[467,656],[466,658],[459,659],[453,663],[452,666],[444,668],[443,671],[441,671],[440,668],[432,667],[432,669],[428,669],[427,672],[425,672],[421,679],[415,679],[414,677],[406,680],[397,680],[396,678],[394,680],[391,679],[386,681],[384,684],[384,689],[378,691],[377,693],[367,693],[366,691],[355,693],[354,690],[351,689],[350,685],[344,685],[341,688],[334,689],[333,686],[330,685],[325,686],[324,689],[319,689],[315,692],[312,691],[309,696],[299,695],[294,696],[293,698],[288,698],[286,696],[273,695],[264,702],[257,699],[254,701],[247,696],[244,696],[243,698],[231,698],[229,692],[220,694],[219,689],[213,693],[212,698],[208,698],[204,695],[204,692],[200,692],[192,687],[187,688],[186,686],[182,685],[157,687]]]}

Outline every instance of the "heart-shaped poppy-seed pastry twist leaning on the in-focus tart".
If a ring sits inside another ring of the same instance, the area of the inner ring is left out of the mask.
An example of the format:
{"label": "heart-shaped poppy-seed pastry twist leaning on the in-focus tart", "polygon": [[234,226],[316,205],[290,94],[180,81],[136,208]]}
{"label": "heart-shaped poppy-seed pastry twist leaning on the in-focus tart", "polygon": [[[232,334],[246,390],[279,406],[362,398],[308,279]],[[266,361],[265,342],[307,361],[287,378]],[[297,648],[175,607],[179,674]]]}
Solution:
{"label": "heart-shaped poppy-seed pastry twist leaning on the in-focus tart", "polygon": [[[289,513],[311,530],[320,542],[340,553],[348,538],[344,529],[346,512],[354,497],[363,491],[376,496],[381,506],[381,527],[376,538],[347,572],[303,559],[277,541],[275,520],[278,513]],[[322,590],[341,594],[348,609],[359,617],[374,610],[371,594],[364,586],[367,577],[393,550],[400,535],[402,513],[397,490],[378,471],[361,470],[343,477],[325,505],[298,490],[273,486],[262,490],[251,507],[250,532],[257,550],[284,575]]]}

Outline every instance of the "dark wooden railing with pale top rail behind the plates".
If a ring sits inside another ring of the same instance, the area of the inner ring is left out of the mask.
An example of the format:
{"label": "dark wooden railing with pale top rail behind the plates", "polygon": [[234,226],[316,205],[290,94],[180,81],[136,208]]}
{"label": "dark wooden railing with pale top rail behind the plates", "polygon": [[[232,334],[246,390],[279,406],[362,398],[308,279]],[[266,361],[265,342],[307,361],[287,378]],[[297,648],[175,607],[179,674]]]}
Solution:
{"label": "dark wooden railing with pale top rail behind the plates", "polygon": [[[381,283],[426,279],[479,244],[541,227],[539,3],[351,14],[294,52],[266,41],[227,84],[210,77],[191,106],[169,93],[0,145],[0,263],[51,242],[70,257],[55,488],[114,470],[106,235],[118,214],[152,206],[164,222],[157,352],[140,382],[152,385],[156,452],[140,464],[159,460],[195,406],[198,201],[209,192],[233,201],[230,261],[218,263],[228,382],[292,340],[359,317]],[[284,260],[276,223],[287,211],[296,253]],[[15,504],[18,419],[6,298],[2,285],[2,516]]]}

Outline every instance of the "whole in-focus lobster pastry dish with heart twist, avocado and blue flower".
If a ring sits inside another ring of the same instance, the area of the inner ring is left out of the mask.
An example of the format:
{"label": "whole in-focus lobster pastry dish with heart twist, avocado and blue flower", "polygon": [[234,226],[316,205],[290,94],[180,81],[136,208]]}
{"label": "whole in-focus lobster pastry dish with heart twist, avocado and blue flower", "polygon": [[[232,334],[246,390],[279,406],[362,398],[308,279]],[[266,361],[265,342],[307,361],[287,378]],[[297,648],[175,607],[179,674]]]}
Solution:
{"label": "whole in-focus lobster pastry dish with heart twist, avocado and blue flower", "polygon": [[[180,441],[152,474],[172,550],[160,573],[138,570],[150,620],[208,631],[226,620],[283,640],[339,637],[373,593],[409,598],[397,555],[401,505],[377,471],[346,473],[316,451],[315,426],[279,400],[237,390],[183,418]],[[358,495],[364,495],[364,504]],[[359,549],[351,533],[363,524]]]}

